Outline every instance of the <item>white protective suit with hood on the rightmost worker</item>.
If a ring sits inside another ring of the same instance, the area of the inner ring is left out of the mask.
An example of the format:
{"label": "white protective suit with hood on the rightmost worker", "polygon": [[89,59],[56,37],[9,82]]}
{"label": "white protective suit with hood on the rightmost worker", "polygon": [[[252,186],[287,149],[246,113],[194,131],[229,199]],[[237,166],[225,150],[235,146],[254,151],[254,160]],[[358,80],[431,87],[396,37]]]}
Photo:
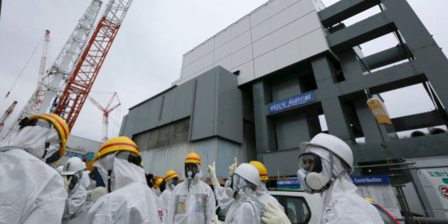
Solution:
{"label": "white protective suit with hood on the rightmost worker", "polygon": [[[340,174],[343,171],[341,160],[326,149],[319,146],[308,146],[311,151],[321,157],[322,174]],[[331,168],[330,154],[333,156]],[[383,223],[375,207],[358,194],[358,188],[348,174],[343,174],[331,183],[329,189],[321,193],[322,215],[320,223]]]}

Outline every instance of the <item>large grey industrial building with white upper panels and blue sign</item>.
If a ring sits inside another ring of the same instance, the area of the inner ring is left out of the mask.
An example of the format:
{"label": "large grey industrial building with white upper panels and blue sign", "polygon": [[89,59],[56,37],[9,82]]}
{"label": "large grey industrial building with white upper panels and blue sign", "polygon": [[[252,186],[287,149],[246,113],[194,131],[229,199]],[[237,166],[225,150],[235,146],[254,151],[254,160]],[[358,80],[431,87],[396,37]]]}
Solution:
{"label": "large grey industrial building with white upper panels and blue sign", "polygon": [[[378,14],[344,25],[373,7]],[[363,56],[359,45],[389,33],[397,46]],[[447,125],[447,71],[447,58],[405,0],[327,8],[316,0],[271,0],[186,53],[173,87],[130,108],[120,134],[134,139],[145,170],[156,176],[182,173],[184,157],[196,151],[202,171],[216,161],[225,177],[234,157],[262,161],[270,176],[295,176],[299,143],[329,132],[351,145],[356,174],[390,175],[392,166],[401,176],[395,181],[420,199],[412,213],[442,218],[442,204],[428,200],[418,178],[425,167],[417,166],[422,158],[446,166],[448,135],[399,139],[396,132]],[[435,110],[379,126],[366,90],[378,95],[416,84]]]}

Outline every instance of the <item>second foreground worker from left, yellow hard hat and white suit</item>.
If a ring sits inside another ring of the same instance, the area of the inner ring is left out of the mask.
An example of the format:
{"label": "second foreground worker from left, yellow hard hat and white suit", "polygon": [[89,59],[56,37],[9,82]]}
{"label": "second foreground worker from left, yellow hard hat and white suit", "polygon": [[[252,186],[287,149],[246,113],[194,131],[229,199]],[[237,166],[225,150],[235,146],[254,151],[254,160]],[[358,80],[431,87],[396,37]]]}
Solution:
{"label": "second foreground worker from left, yellow hard hat and white suit", "polygon": [[92,205],[85,223],[163,223],[164,213],[146,185],[142,159],[131,139],[108,140],[91,162],[109,193]]}

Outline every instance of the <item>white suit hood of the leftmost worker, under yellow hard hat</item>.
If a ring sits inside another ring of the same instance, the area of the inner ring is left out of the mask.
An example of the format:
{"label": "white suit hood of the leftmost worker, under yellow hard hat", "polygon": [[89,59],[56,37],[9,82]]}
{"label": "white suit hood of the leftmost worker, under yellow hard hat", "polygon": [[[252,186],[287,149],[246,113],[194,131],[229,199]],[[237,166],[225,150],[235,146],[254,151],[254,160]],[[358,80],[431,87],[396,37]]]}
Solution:
{"label": "white suit hood of the leftmost worker, under yellow hard hat", "polygon": [[[48,142],[48,147],[47,146]],[[60,148],[58,132],[53,128],[27,126],[12,132],[0,142],[1,147],[23,149],[29,154],[46,161]]]}

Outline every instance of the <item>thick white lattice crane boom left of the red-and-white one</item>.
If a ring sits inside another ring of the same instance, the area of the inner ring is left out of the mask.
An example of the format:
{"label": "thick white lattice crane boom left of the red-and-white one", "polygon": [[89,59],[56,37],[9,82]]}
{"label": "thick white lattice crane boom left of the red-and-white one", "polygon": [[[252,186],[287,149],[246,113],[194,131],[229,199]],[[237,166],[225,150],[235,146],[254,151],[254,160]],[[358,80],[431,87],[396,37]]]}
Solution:
{"label": "thick white lattice crane boom left of the red-and-white one", "polygon": [[[89,7],[82,15],[74,31],[71,33],[68,41],[65,43],[51,68],[43,75],[41,85],[38,85],[36,91],[21,110],[20,114],[9,128],[8,135],[12,130],[18,129],[18,122],[24,117],[29,117],[36,112],[43,114],[48,112],[50,102],[56,94],[63,90],[68,77],[73,72],[75,64],[80,59],[87,39],[92,33],[95,20],[100,11],[102,1],[92,0]],[[49,34],[49,33],[48,33]],[[41,60],[42,63],[42,60]],[[44,69],[45,70],[45,69]],[[41,70],[40,70],[41,71]]]}

